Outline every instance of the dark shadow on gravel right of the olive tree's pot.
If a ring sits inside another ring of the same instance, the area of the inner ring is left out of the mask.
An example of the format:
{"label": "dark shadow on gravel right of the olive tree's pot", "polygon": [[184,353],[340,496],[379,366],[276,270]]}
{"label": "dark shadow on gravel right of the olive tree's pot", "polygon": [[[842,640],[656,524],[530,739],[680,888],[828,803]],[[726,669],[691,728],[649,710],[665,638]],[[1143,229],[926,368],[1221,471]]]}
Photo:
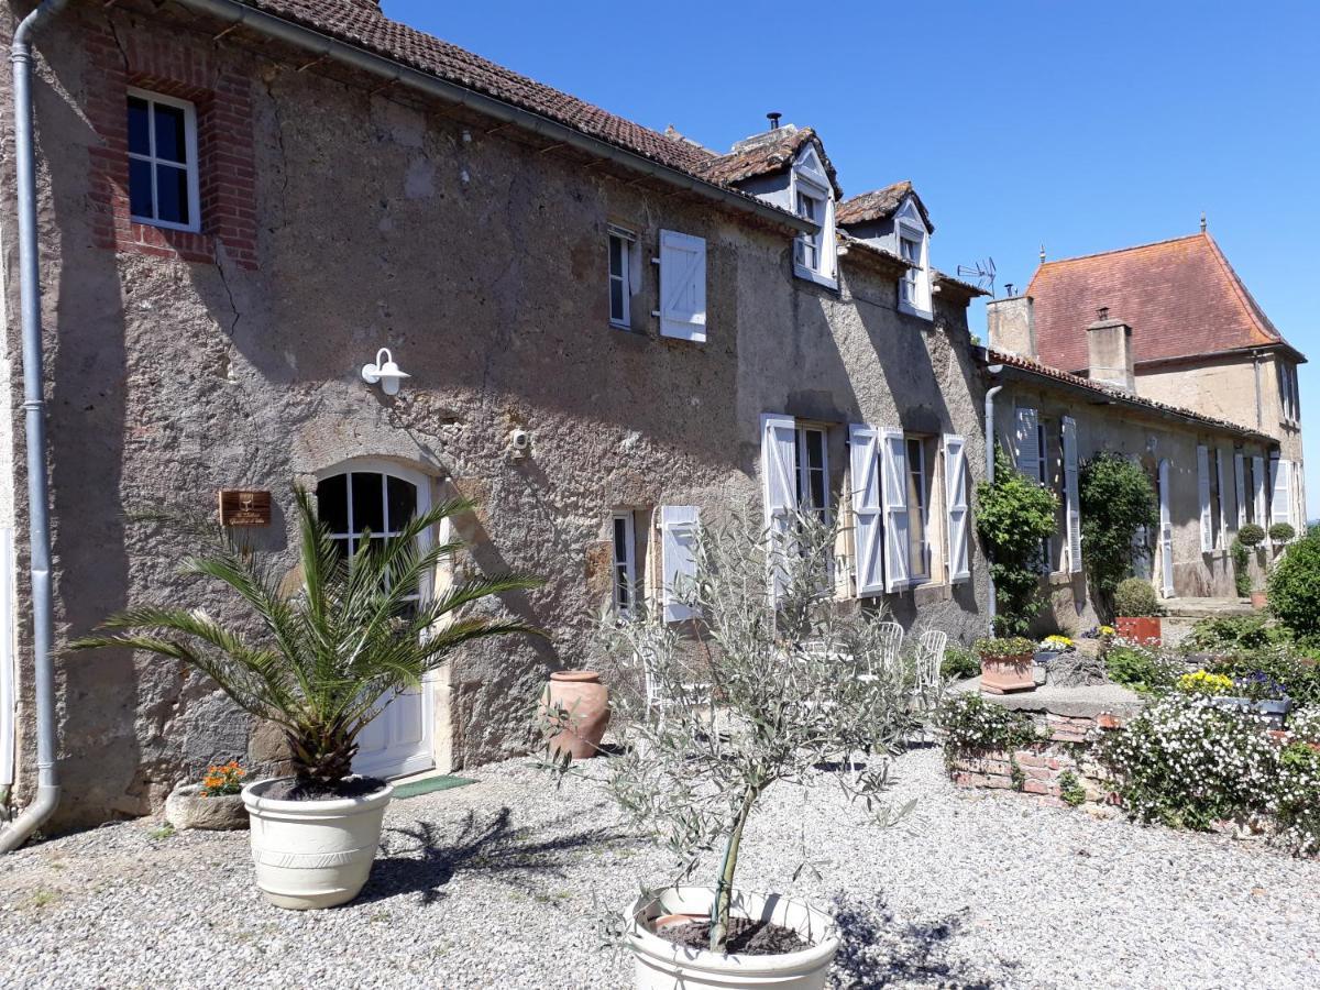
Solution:
{"label": "dark shadow on gravel right of the olive tree's pot", "polygon": [[[840,948],[834,957],[838,990],[878,990],[894,986],[964,987],[989,990],[995,978],[950,961],[949,942],[962,931],[962,919],[950,915],[933,924],[900,924],[883,896],[853,900],[834,898]],[[999,964],[1005,965],[1005,964]]]}

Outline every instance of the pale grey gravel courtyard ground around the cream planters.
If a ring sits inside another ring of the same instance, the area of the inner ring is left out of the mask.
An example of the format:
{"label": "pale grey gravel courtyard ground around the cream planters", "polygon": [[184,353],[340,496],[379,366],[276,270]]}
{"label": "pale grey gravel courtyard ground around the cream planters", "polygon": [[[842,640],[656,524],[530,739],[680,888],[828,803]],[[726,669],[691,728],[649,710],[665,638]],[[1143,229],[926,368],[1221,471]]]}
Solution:
{"label": "pale grey gravel courtyard ground around the cream planters", "polygon": [[[837,789],[772,791],[750,888],[834,902],[837,986],[1320,986],[1320,862],[956,791],[940,754],[896,764],[895,828]],[[397,801],[352,904],[267,906],[246,833],[108,825],[0,858],[0,985],[626,987],[595,917],[665,878],[587,783],[525,762]],[[818,875],[791,880],[803,849]]]}

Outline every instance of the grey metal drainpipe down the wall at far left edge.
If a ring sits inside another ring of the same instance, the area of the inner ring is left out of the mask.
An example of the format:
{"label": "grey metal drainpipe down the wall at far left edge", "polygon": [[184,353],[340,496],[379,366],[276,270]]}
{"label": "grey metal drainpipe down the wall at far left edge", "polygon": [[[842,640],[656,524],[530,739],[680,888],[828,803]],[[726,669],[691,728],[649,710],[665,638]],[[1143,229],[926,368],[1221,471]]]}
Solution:
{"label": "grey metal drainpipe down the wall at far left edge", "polygon": [[0,853],[21,846],[59,804],[55,777],[55,671],[50,659],[50,508],[46,492],[45,381],[41,374],[41,268],[37,253],[37,169],[32,108],[32,33],[69,0],[45,0],[18,24],[13,63],[13,152],[18,183],[18,285],[22,317],[22,409],[28,433],[28,519],[32,535],[32,669],[37,698],[37,796],[4,832]]}

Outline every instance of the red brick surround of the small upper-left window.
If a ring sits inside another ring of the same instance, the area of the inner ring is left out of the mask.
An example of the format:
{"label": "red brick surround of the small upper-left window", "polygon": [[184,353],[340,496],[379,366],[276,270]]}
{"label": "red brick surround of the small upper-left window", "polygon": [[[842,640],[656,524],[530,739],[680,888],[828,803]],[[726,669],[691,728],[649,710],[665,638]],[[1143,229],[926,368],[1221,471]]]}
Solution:
{"label": "red brick surround of the small upper-left window", "polygon": [[[234,264],[255,269],[256,168],[247,75],[177,34],[120,29],[116,38],[108,21],[88,28],[87,119],[100,139],[88,149],[95,246],[207,264],[223,249]],[[139,223],[129,215],[129,87],[197,107],[199,232]]]}

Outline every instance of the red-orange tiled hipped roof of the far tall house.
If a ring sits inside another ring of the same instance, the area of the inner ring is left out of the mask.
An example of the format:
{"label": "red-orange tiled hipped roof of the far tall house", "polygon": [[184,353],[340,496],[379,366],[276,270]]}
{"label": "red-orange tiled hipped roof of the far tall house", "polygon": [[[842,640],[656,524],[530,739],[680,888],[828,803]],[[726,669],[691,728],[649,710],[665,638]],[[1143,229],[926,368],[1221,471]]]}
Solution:
{"label": "red-orange tiled hipped roof of the far tall house", "polygon": [[1137,362],[1287,343],[1209,234],[1047,261],[1027,286],[1040,359],[1086,367],[1096,310],[1133,327]]}

